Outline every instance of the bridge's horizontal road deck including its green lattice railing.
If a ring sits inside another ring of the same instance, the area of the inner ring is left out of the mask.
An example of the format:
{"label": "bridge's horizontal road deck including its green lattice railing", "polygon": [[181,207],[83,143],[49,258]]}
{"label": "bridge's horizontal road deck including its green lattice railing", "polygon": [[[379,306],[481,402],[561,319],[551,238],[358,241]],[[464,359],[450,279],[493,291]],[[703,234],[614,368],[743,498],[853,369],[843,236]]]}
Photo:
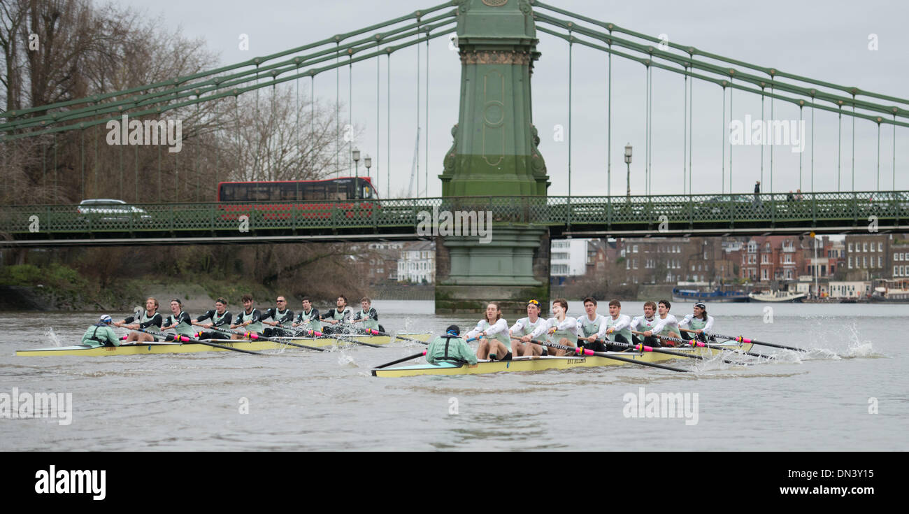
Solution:
{"label": "bridge's horizontal road deck including its green lattice railing", "polygon": [[[495,226],[549,227],[552,237],[721,236],[909,231],[909,192],[654,197],[446,197],[314,202],[12,206],[0,246],[220,244],[416,239],[492,213]],[[435,214],[434,214],[435,213]],[[426,223],[428,220],[428,223]],[[421,225],[421,221],[424,221]],[[431,230],[431,228],[430,228]]]}

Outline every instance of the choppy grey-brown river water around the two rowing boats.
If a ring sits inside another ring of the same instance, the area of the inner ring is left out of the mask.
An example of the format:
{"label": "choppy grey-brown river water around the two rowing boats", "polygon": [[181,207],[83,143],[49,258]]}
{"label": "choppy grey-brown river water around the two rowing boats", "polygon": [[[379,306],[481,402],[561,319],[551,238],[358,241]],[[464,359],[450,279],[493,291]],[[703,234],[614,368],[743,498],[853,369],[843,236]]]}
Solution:
{"label": "choppy grey-brown river water around the two rowing boats", "polygon": [[[392,332],[439,335],[453,322],[465,332],[481,316],[436,316],[422,301],[374,307]],[[634,316],[642,302],[623,307]],[[672,312],[681,319],[691,307],[674,304]],[[708,311],[718,333],[813,351],[755,346],[779,358],[667,363],[694,373],[627,365],[374,378],[374,366],[425,347],[25,358],[15,350],[77,344],[98,314],[0,313],[0,414],[14,389],[72,394],[67,424],[7,409],[0,450],[909,449],[909,306]],[[579,314],[580,302],[570,302],[569,316]],[[685,410],[659,409],[652,393],[687,398]],[[613,437],[635,433],[672,437]]]}

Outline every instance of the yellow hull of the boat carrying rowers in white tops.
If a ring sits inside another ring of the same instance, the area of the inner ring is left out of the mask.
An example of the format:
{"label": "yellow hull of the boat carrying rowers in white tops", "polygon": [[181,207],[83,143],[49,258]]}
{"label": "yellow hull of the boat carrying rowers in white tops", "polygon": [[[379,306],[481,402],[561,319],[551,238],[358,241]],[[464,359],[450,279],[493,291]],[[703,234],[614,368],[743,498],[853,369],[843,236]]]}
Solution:
{"label": "yellow hull of the boat carrying rowers in white tops", "polygon": [[[751,343],[736,343],[728,341],[714,347],[727,350],[751,351]],[[724,352],[713,348],[670,348],[676,352],[693,353],[694,355],[711,356]],[[632,358],[642,362],[660,362],[673,358],[682,358],[656,352],[607,352],[617,357]],[[482,375],[485,373],[501,373],[506,371],[543,371],[546,369],[568,368],[594,368],[599,366],[619,366],[627,364],[625,361],[604,357],[515,357],[511,360],[480,360],[475,367],[458,365],[451,362],[438,364],[417,364],[414,366],[401,366],[397,368],[373,369],[373,377],[415,377],[418,375]]]}

